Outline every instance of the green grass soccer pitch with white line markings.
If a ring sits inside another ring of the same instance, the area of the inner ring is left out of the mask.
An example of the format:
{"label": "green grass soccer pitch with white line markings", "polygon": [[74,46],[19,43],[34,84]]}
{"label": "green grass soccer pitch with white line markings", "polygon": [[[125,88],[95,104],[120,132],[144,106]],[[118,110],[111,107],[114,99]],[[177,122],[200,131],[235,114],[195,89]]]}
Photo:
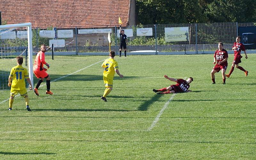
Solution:
{"label": "green grass soccer pitch with white line markings", "polygon": [[[225,85],[220,73],[212,84],[213,55],[116,57],[124,78],[107,103],[106,58],[46,56],[54,94],[45,81],[39,97],[29,91],[32,112],[20,96],[8,111],[10,90],[0,91],[0,159],[256,159],[256,54],[240,63],[249,75],[235,68]],[[16,65],[0,61],[2,72]],[[192,76],[192,92],[157,95],[175,84],[165,74]]]}

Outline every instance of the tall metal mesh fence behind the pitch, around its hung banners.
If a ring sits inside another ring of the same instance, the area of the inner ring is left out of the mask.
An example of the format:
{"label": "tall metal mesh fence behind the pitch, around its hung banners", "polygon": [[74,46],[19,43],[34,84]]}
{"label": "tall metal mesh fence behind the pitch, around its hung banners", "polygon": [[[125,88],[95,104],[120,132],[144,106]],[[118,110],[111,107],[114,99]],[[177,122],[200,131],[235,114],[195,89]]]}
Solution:
{"label": "tall metal mesh fence behind the pitch, around its hung banners", "polygon": [[[122,29],[132,29],[132,36],[128,37],[127,51],[153,50],[158,52],[176,52],[176,51],[213,51],[218,48],[218,42],[223,42],[227,50],[231,47],[238,35],[238,27],[255,26],[255,23],[194,23],[194,24],[167,24],[167,25],[136,25],[126,26]],[[188,41],[168,42],[165,40],[165,28],[167,27],[188,27]],[[75,51],[76,53],[85,52],[108,52],[108,33],[86,33],[79,34],[80,29],[111,29],[111,50],[119,50],[119,26],[103,27],[103,28],[70,28],[65,30],[73,30],[72,38],[56,38],[65,40],[65,47],[56,47],[55,51]],[[152,35],[138,36],[136,29],[152,28]],[[47,30],[52,30],[48,27]],[[61,28],[57,28],[59,30]],[[37,28],[33,30],[33,46],[34,51],[38,51],[40,44],[49,44],[49,38],[39,36]],[[63,30],[63,29],[61,29]]]}

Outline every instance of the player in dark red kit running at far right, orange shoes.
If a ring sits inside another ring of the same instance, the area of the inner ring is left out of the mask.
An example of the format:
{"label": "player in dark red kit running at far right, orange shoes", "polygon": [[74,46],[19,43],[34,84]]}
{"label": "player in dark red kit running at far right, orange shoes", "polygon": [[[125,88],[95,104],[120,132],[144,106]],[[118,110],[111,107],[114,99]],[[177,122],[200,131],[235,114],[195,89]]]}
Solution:
{"label": "player in dark red kit running at far right, orange shoes", "polygon": [[243,57],[243,56],[241,56],[241,51],[244,51],[245,59],[248,58],[247,55],[246,55],[245,47],[244,47],[243,43],[240,42],[240,40],[241,40],[241,37],[237,36],[236,37],[236,42],[234,43],[233,48],[232,48],[234,50],[234,62],[231,66],[231,69],[230,69],[229,73],[226,75],[228,78],[230,77],[230,75],[234,71],[235,66],[236,66],[236,68],[244,71],[245,76],[248,75],[248,71],[245,70],[243,67],[239,66],[239,63],[241,63],[241,58]]}

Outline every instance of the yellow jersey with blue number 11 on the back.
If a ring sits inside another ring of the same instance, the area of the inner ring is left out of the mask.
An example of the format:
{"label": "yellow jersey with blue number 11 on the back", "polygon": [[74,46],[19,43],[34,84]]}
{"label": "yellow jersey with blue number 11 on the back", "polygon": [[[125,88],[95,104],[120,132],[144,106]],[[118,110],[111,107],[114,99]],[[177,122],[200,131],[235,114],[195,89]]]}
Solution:
{"label": "yellow jersey with blue number 11 on the back", "polygon": [[10,77],[12,77],[12,89],[26,89],[25,78],[29,78],[28,70],[26,68],[23,68],[21,65],[12,67]]}

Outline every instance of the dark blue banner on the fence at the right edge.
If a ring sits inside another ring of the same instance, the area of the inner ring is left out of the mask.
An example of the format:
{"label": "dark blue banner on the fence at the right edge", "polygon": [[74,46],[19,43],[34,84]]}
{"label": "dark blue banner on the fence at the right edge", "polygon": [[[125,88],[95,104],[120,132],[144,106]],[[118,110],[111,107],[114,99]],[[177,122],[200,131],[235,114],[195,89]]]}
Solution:
{"label": "dark blue banner on the fence at the right edge", "polygon": [[238,27],[238,35],[245,49],[256,49],[256,26]]}

